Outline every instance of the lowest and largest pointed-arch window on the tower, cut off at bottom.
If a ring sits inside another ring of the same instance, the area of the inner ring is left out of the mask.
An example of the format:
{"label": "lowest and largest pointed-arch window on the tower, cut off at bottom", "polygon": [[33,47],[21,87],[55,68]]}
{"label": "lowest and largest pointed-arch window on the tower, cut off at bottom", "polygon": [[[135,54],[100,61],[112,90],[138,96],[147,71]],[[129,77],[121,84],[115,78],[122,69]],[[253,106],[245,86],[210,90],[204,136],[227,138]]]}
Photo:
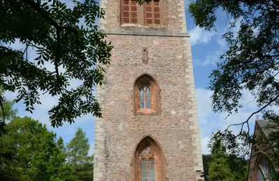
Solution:
{"label": "lowest and largest pointed-arch window on the tower, cut off at bottom", "polygon": [[136,181],[161,181],[165,175],[165,159],[160,145],[146,136],[137,145],[133,171]]}

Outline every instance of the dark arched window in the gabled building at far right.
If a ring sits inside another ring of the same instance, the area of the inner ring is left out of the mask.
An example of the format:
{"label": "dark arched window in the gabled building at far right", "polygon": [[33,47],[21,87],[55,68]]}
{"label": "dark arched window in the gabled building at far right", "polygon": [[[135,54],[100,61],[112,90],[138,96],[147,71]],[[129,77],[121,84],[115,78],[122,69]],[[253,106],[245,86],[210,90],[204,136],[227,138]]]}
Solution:
{"label": "dark arched window in the gabled building at far right", "polygon": [[257,181],[273,181],[275,180],[275,169],[269,159],[263,154],[259,155],[255,172]]}

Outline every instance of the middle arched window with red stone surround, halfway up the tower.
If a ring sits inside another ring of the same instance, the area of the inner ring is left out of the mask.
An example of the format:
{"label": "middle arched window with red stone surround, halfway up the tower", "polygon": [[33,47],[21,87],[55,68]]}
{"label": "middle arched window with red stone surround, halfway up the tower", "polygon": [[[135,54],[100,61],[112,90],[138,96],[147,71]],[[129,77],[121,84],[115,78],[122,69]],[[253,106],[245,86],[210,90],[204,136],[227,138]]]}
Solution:
{"label": "middle arched window with red stone surround, halfway up the tower", "polygon": [[160,88],[157,81],[148,74],[135,81],[134,112],[160,113]]}

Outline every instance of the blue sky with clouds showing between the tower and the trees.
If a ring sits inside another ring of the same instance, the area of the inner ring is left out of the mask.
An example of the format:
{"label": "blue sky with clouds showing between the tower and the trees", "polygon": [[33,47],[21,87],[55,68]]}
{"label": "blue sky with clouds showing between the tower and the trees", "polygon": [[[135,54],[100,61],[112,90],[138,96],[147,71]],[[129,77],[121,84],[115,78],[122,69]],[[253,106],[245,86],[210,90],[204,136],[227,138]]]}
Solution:
{"label": "blue sky with clouds showing between the tower and the trees", "polygon": [[[72,6],[69,0],[63,0]],[[186,0],[188,1],[188,0]],[[205,31],[195,26],[193,17],[190,17],[188,13],[188,3],[186,3],[186,20],[188,26],[188,33],[191,36],[191,47],[193,52],[193,66],[195,75],[195,88],[197,95],[197,108],[199,113],[199,127],[201,133],[202,141],[202,152],[208,153],[209,150],[206,145],[209,141],[209,136],[212,132],[217,129],[225,129],[229,124],[240,123],[244,119],[248,118],[249,113],[255,111],[257,107],[255,102],[251,102],[252,96],[248,93],[245,94],[243,98],[243,103],[245,107],[239,111],[239,113],[227,117],[226,113],[213,113],[211,111],[211,94],[212,92],[207,90],[206,87],[209,84],[209,74],[216,68],[216,63],[219,60],[220,54],[225,52],[227,48],[225,41],[222,38],[222,34],[225,31],[225,24],[228,19],[224,19],[227,16],[224,13],[218,13],[218,21],[216,23],[218,31]],[[15,43],[13,45],[15,49],[22,49],[22,45]],[[35,58],[35,54],[29,54],[30,58]],[[32,57],[33,56],[33,57]],[[6,93],[8,100],[13,100],[15,98],[15,93]],[[63,140],[67,143],[70,139],[73,139],[75,131],[78,127],[81,127],[86,136],[89,138],[89,143],[91,145],[90,152],[93,153],[93,141],[94,141],[94,118],[93,116],[86,115],[82,118],[78,118],[76,123],[69,125],[65,123],[62,127],[53,128],[50,126],[48,120],[47,111],[56,104],[57,97],[51,97],[50,95],[43,95],[41,97],[41,102],[43,104],[37,105],[33,114],[24,111],[25,107],[22,102],[15,104],[15,109],[18,110],[18,116],[31,116],[32,118],[39,120],[41,123],[47,125],[47,127],[56,132],[57,136],[61,136]],[[252,118],[255,120],[255,118]],[[253,122],[253,121],[252,121]],[[253,124],[251,125],[253,127]],[[234,131],[237,127],[232,128]]]}

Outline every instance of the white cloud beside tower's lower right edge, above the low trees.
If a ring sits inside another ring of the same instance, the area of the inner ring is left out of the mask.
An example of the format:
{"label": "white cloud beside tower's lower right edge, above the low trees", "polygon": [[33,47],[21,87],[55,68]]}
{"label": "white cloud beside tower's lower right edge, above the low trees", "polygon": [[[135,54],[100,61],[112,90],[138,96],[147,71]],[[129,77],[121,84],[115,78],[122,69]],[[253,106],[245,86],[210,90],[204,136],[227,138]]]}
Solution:
{"label": "white cloud beside tower's lower right edge, above the low trees", "polygon": [[[240,109],[238,113],[232,114],[227,117],[227,113],[214,113],[211,109],[211,95],[212,91],[205,90],[203,88],[197,88],[197,109],[199,113],[199,127],[202,137],[202,153],[208,154],[209,148],[207,148],[207,143],[209,141],[209,137],[216,130],[227,129],[227,127],[234,123],[241,123],[246,120],[250,114],[258,109],[257,104],[254,100],[254,97],[245,91],[243,93],[243,99],[241,100],[241,104],[245,107]],[[258,116],[261,116],[260,114]],[[253,125],[255,123],[255,119],[257,116],[254,116],[250,119],[250,133],[252,134]],[[231,127],[233,132],[239,132],[240,127]]]}

